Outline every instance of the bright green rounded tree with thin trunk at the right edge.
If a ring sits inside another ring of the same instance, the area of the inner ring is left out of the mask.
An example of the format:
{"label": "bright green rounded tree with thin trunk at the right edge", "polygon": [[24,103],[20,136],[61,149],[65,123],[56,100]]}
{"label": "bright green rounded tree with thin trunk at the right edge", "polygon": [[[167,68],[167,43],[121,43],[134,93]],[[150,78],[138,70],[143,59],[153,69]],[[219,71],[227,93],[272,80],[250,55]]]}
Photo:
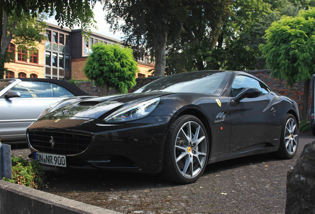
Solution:
{"label": "bright green rounded tree with thin trunk at the right edge", "polygon": [[306,120],[310,79],[315,74],[315,7],[273,22],[265,39],[260,49],[271,75],[289,86],[305,82],[302,119]]}

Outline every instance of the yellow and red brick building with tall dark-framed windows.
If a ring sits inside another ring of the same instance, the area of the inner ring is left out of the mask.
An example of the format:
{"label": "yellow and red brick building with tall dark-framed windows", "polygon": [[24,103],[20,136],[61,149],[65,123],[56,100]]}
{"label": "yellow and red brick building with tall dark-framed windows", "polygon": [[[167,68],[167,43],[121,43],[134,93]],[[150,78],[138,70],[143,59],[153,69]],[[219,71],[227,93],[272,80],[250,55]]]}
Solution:
{"label": "yellow and red brick building with tall dark-framed windows", "polygon": [[[15,47],[14,42],[10,44],[8,52],[14,61],[4,65],[9,70],[5,78],[87,79],[83,68],[92,45],[100,42],[121,44],[119,40],[97,33],[91,33],[89,39],[85,39],[81,29],[61,29],[57,25],[47,24],[46,41],[38,44],[32,53]],[[139,72],[136,77],[152,76],[154,64],[149,57],[142,56],[137,61]]]}

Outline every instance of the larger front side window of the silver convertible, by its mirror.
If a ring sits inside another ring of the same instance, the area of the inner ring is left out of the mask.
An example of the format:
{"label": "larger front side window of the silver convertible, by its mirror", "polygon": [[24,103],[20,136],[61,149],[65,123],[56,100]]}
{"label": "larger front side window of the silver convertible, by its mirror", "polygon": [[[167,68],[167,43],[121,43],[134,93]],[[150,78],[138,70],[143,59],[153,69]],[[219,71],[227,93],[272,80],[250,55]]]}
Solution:
{"label": "larger front side window of the silver convertible, by its mirror", "polygon": [[20,82],[10,89],[10,91],[18,91],[20,98],[45,98],[53,97],[52,84],[46,82]]}

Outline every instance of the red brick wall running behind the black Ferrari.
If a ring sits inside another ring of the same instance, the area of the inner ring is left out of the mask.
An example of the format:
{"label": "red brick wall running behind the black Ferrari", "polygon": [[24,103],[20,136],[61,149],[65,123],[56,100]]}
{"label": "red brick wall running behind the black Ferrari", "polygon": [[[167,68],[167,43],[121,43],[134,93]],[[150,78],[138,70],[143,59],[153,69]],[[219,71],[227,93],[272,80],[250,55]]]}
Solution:
{"label": "red brick wall running behind the black Ferrari", "polygon": [[[269,70],[253,70],[253,71],[245,71],[253,76],[256,76],[260,80],[262,80],[272,91],[280,94],[285,95],[287,97],[292,98],[295,100],[299,105],[300,116],[302,115],[302,103],[303,103],[303,94],[304,94],[304,82],[296,83],[289,88],[286,85],[284,80],[279,80],[270,77]],[[137,78],[136,82],[137,85],[133,89],[129,89],[129,93],[136,91],[137,89],[141,88],[142,86],[158,79],[160,77],[143,77]],[[78,83],[78,87],[82,90],[86,91],[87,93],[95,96],[103,96],[105,95],[105,89],[103,87],[93,86],[93,82],[80,82]],[[109,90],[109,94],[116,94],[114,89]],[[309,101],[310,104],[310,101]]]}

